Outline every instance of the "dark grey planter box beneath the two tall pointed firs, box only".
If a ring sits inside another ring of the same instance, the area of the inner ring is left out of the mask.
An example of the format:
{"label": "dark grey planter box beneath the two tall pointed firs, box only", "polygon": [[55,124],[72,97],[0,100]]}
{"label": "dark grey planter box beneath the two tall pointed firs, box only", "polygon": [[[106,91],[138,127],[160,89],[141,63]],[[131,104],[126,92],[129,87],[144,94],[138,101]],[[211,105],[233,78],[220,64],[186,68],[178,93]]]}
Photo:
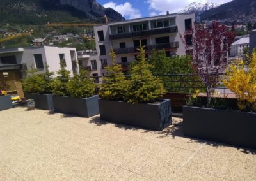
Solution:
{"label": "dark grey planter box beneath the two tall pointed firs, box only", "polygon": [[172,124],[169,99],[159,103],[131,104],[99,99],[100,119],[157,131]]}

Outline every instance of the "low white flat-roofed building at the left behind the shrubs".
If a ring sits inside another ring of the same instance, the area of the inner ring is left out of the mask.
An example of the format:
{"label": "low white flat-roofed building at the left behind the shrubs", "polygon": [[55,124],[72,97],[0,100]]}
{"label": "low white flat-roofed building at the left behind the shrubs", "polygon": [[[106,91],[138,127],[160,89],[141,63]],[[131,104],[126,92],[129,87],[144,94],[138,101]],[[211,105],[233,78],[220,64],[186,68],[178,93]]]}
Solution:
{"label": "low white flat-roofed building at the left behind the shrubs", "polygon": [[27,69],[33,67],[43,73],[47,63],[49,71],[56,73],[60,69],[60,62],[65,64],[71,75],[79,73],[76,48],[42,46],[0,49],[0,66],[26,64]]}

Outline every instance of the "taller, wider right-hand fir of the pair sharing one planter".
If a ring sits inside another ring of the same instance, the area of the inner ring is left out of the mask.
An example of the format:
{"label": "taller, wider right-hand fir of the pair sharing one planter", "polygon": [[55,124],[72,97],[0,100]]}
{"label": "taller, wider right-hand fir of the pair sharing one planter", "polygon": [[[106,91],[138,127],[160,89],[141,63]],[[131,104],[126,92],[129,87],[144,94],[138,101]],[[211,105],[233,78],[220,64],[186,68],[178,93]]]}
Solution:
{"label": "taller, wider right-hand fir of the pair sharing one planter", "polygon": [[153,68],[148,64],[145,58],[145,47],[138,49],[138,63],[131,69],[131,78],[125,92],[125,101],[129,103],[150,103],[157,98],[161,98],[166,90],[161,83],[161,79],[152,75],[150,69]]}

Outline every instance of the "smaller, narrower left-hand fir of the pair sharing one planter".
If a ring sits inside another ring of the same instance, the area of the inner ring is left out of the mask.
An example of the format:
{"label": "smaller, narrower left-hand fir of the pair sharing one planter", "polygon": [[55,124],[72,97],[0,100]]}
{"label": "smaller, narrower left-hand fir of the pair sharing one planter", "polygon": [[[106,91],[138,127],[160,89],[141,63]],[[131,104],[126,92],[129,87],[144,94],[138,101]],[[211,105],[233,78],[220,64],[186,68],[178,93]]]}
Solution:
{"label": "smaller, narrower left-hand fir of the pair sharing one planter", "polygon": [[111,49],[109,53],[111,57],[112,66],[105,66],[107,76],[104,76],[99,96],[108,100],[122,100],[124,99],[125,89],[127,87],[127,80],[125,80],[124,73],[122,73],[122,66],[116,64],[116,54]]}

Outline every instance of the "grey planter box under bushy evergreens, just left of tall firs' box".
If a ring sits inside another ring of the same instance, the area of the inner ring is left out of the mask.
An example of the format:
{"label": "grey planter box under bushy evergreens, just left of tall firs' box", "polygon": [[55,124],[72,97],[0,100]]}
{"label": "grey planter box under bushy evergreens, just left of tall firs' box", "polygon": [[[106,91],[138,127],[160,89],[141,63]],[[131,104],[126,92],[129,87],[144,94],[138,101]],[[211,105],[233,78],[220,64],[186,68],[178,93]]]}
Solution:
{"label": "grey planter box under bushy evergreens, just left of tall firs' box", "polygon": [[55,112],[76,115],[79,117],[92,117],[99,114],[99,96],[90,98],[72,98],[67,96],[52,96]]}

